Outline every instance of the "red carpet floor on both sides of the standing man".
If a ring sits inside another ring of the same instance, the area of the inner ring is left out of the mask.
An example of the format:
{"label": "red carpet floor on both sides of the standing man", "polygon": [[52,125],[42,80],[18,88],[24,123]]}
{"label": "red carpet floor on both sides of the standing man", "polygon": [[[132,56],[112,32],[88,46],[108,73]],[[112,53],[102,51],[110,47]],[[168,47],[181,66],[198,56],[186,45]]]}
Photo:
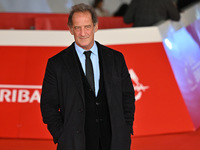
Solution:
{"label": "red carpet floor on both sides of the standing man", "polygon": [[[0,139],[0,150],[56,150],[52,140]],[[200,150],[200,129],[195,132],[133,137],[131,150]]]}

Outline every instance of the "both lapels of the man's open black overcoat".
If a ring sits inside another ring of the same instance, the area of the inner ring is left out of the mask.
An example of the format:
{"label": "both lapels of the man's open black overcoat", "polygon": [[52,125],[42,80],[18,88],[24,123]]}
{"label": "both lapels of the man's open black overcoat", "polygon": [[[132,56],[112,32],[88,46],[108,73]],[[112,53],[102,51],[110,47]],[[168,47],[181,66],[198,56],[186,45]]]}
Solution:
{"label": "both lapels of the man's open black overcoat", "polygon": [[[103,45],[99,44],[98,42],[98,51],[99,51],[99,57],[101,57],[101,63],[102,63],[102,69],[103,69],[103,76],[104,76],[104,83],[105,83],[105,90],[108,102],[111,99],[111,82],[112,82],[112,69],[114,65],[113,60],[113,53],[110,51],[107,47],[104,47]],[[84,89],[83,89],[83,82],[81,77],[81,71],[78,66],[78,56],[76,56],[76,51],[74,47],[74,43],[70,45],[65,54],[63,55],[63,60],[65,62],[66,68],[69,70],[72,79],[74,80],[74,83],[77,87],[77,90],[79,91],[81,97],[84,100]]]}

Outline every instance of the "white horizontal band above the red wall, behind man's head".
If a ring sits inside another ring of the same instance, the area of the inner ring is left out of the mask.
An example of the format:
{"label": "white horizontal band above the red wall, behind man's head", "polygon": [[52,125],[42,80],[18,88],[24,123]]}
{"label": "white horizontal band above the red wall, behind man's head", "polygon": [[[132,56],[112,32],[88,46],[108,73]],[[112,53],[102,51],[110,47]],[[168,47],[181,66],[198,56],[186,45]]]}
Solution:
{"label": "white horizontal band above the red wall, behind man's head", "polygon": [[[105,45],[162,41],[157,27],[99,30],[95,40]],[[0,45],[68,46],[73,41],[69,31],[0,30]]]}

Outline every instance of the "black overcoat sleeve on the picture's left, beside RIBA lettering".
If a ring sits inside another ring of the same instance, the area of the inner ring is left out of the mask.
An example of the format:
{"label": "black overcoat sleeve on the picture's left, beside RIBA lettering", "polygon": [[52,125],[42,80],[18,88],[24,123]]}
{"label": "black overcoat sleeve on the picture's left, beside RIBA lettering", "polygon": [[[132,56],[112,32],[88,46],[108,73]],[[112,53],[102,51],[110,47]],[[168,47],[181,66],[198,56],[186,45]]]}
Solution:
{"label": "black overcoat sleeve on the picture's left, beside RIBA lettering", "polygon": [[47,63],[43,80],[40,108],[43,122],[47,124],[54,143],[57,143],[62,133],[63,120],[59,111],[56,71],[50,60]]}

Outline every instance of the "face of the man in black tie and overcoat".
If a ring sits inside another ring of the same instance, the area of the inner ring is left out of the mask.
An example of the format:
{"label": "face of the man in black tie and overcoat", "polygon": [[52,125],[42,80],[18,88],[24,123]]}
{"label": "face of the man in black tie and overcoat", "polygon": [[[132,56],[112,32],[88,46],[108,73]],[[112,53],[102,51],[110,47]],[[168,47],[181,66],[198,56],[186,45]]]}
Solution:
{"label": "face of the man in black tie and overcoat", "polygon": [[72,17],[70,33],[74,35],[75,42],[85,50],[90,50],[94,44],[94,33],[98,24],[94,26],[89,12],[76,12]]}

